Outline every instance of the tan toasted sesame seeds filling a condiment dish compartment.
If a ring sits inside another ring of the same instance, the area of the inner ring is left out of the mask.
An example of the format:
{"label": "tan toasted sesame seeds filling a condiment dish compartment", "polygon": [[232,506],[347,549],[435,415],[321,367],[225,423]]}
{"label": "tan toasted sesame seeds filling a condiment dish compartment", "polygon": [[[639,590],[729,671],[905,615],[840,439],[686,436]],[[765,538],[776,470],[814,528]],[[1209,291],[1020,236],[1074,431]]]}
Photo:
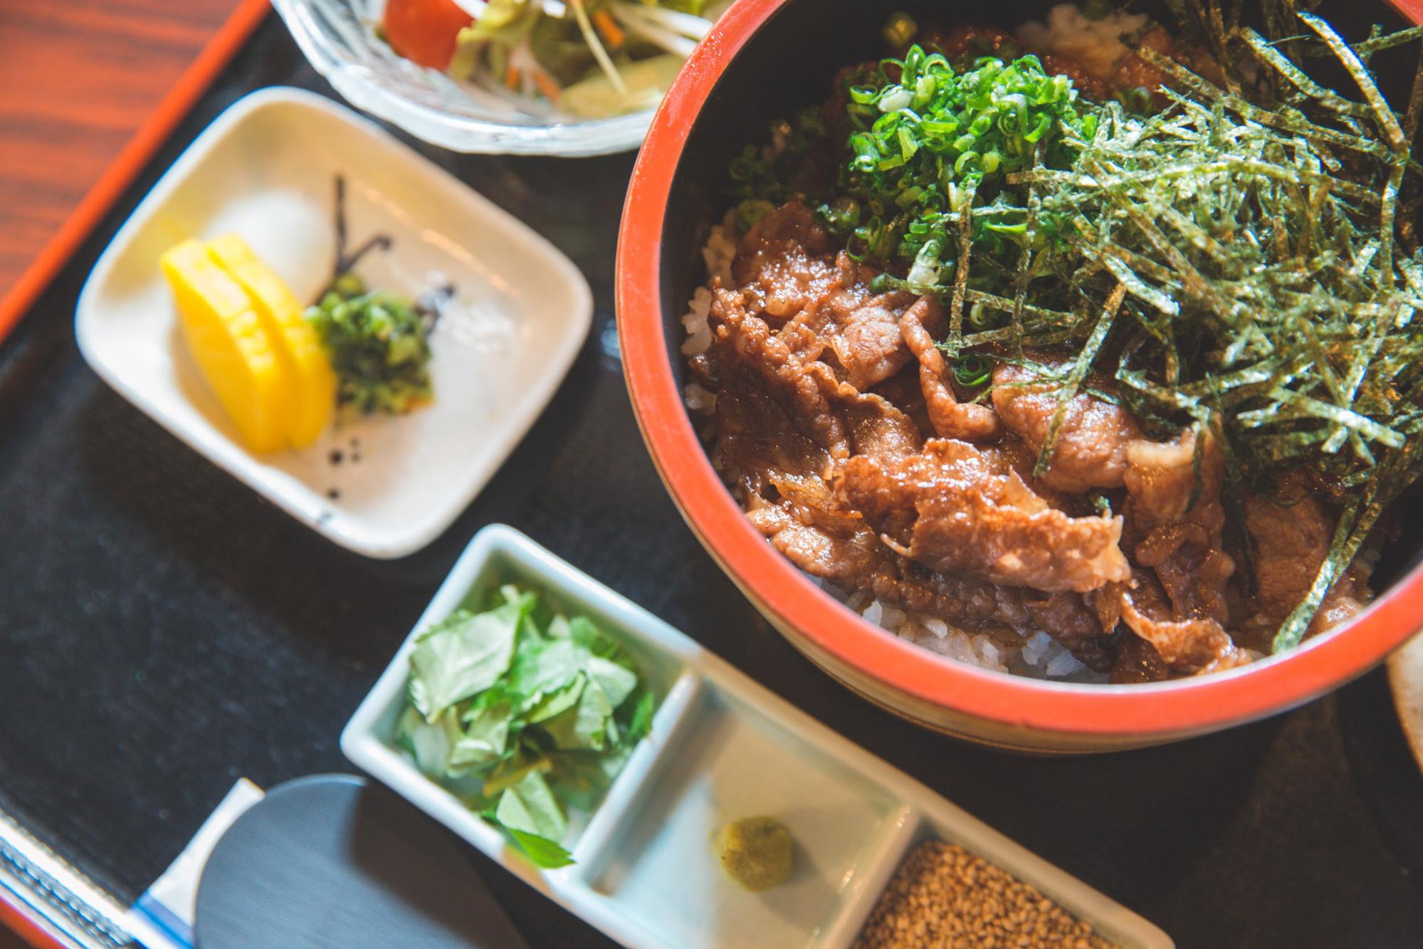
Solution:
{"label": "tan toasted sesame seeds filling a condiment dish compartment", "polygon": [[962,847],[928,841],[899,865],[855,949],[1113,949],[1033,886]]}

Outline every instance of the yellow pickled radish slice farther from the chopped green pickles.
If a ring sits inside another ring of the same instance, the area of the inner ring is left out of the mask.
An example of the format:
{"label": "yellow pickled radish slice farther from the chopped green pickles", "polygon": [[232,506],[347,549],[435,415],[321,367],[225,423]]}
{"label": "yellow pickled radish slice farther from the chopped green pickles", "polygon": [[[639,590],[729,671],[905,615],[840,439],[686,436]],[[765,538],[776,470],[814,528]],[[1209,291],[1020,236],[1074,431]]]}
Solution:
{"label": "yellow pickled radish slice farther from the chopped green pickles", "polygon": [[248,295],[196,240],[168,250],[161,266],[178,303],[188,350],[242,441],[252,451],[282,448],[290,393],[272,339]]}

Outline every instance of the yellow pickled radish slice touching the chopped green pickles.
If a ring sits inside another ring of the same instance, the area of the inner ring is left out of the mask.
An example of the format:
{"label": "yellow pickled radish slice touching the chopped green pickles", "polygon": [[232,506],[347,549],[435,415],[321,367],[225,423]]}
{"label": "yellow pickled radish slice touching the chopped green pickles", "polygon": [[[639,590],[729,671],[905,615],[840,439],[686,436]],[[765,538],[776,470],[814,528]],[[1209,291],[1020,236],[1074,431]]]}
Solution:
{"label": "yellow pickled radish slice touching the chopped green pickles", "polygon": [[296,396],[286,415],[286,437],[293,448],[310,445],[336,411],[336,374],[320,337],[302,319],[302,304],[282,277],[242,238],[225,235],[209,240],[208,256],[242,286],[276,343]]}

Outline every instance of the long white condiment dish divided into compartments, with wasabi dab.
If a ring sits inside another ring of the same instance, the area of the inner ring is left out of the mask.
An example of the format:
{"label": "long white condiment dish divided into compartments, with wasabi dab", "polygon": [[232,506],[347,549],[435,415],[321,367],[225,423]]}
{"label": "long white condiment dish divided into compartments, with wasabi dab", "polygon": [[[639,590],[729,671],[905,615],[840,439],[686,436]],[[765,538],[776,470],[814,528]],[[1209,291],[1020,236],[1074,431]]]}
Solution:
{"label": "long white condiment dish divided into compartments, with wasabi dab", "polygon": [[[662,700],[652,734],[586,825],[564,841],[576,864],[554,871],[508,848],[394,744],[417,633],[509,582],[593,619],[632,653]],[[1002,866],[1120,946],[1173,945],[1141,916],[504,525],[475,535],[346,726],[342,751],[549,898],[639,949],[848,946],[901,861],[928,838]],[[797,868],[785,885],[751,894],[721,874],[712,835],[760,814],[790,829]]]}

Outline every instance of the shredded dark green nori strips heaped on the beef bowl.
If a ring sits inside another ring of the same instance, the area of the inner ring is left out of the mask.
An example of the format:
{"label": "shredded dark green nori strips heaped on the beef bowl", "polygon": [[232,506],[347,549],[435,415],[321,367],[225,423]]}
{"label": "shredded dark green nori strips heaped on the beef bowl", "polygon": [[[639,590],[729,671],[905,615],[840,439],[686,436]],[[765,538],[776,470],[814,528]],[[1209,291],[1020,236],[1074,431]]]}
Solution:
{"label": "shredded dark green nori strips heaped on the beef bowl", "polygon": [[[1423,472],[1412,198],[1423,67],[1400,120],[1365,65],[1423,31],[1350,46],[1311,13],[1271,9],[1271,33],[1302,23],[1318,37],[1309,53],[1331,54],[1362,101],[1282,53],[1299,55],[1301,41],[1275,44],[1200,7],[1211,50],[1264,68],[1257,101],[1244,80],[1221,88],[1138,48],[1167,77],[1165,108],[1079,107],[1097,121],[1059,124],[1054,168],[1033,162],[1005,175],[992,205],[970,198],[938,212],[959,236],[956,253],[945,242],[941,283],[902,285],[951,300],[949,357],[986,349],[1035,364],[1026,350],[1072,344],[1066,366],[1036,366],[1060,383],[1039,474],[1069,401],[1096,374],[1120,384],[1117,400],[1148,433],[1210,431],[1237,512],[1247,494],[1275,494],[1289,470],[1340,498],[1318,576],[1275,635],[1279,652],[1299,643],[1382,511]],[[965,332],[966,303],[978,332]]]}

